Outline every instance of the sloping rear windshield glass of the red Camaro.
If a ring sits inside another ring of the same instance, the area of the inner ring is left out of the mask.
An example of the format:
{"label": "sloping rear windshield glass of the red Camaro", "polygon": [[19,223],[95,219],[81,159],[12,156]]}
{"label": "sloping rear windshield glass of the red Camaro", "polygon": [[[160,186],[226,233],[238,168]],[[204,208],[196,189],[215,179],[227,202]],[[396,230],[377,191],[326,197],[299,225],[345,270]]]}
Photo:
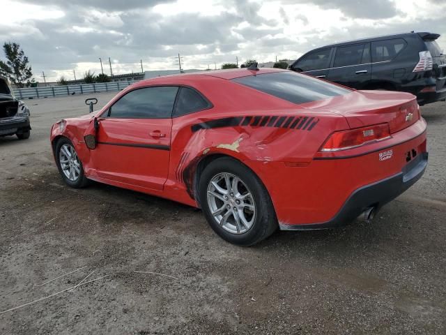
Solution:
{"label": "sloping rear windshield glass of the red Camaro", "polygon": [[323,80],[291,71],[249,75],[247,77],[235,78],[232,81],[252,87],[263,93],[277,96],[277,98],[290,101],[291,103],[309,103],[351,92],[348,89],[343,89]]}

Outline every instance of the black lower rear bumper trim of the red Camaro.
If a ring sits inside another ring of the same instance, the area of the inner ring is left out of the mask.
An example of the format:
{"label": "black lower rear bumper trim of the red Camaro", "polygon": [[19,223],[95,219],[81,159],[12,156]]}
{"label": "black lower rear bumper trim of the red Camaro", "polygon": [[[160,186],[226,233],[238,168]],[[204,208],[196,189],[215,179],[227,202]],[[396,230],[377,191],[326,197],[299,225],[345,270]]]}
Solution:
{"label": "black lower rear bumper trim of the red Camaro", "polygon": [[427,160],[428,153],[424,152],[410,161],[398,174],[358,188],[330,221],[303,225],[280,224],[279,228],[281,230],[318,230],[335,228],[351,223],[368,208],[374,207],[379,209],[415,184],[424,174]]}

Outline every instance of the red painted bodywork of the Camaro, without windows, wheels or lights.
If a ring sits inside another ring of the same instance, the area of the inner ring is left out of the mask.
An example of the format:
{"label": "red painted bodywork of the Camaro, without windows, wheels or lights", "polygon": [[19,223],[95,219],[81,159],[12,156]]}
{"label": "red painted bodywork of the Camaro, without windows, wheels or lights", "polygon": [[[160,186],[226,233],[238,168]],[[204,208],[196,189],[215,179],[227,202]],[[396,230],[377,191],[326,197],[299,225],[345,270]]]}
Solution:
{"label": "red painted bodywork of the Camaro, without windows, wheels or lights", "polygon": [[[51,140],[68,137],[90,179],[191,206],[198,206],[193,187],[189,192],[187,189],[194,179],[197,163],[213,154],[231,156],[243,161],[260,177],[270,193],[279,222],[286,224],[330,220],[357,188],[401,172],[407,151],[426,151],[426,122],[415,96],[410,94],[351,91],[344,96],[295,105],[228,80],[275,71],[279,70],[209,71],[137,82],[95,115],[66,119],[63,131],[59,130],[59,123],[54,124]],[[174,119],[101,117],[127,91],[172,84],[194,87],[213,107]],[[413,114],[410,120],[406,120],[408,113]],[[266,115],[314,117],[318,121],[311,131],[268,126],[191,130],[194,124],[214,119]],[[93,117],[98,117],[98,132]],[[318,151],[335,131],[374,124],[389,124],[391,137],[343,151]],[[84,135],[89,133],[95,133],[100,143],[92,150],[84,143]],[[148,148],[153,145],[168,146],[170,150]],[[379,153],[389,149],[393,151],[392,158],[380,161]]]}

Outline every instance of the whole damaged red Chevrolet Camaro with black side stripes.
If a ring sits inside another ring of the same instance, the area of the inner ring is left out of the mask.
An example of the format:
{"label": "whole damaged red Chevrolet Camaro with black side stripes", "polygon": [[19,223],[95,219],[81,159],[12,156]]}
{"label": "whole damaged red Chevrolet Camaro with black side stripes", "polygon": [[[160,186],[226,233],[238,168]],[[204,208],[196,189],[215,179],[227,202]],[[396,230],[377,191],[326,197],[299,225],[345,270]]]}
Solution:
{"label": "whole damaged red Chevrolet Camaro with black side stripes", "polygon": [[244,246],[277,228],[369,219],[427,165],[415,96],[272,68],[137,82],[54,124],[51,142],[69,186],[91,179],[199,207]]}

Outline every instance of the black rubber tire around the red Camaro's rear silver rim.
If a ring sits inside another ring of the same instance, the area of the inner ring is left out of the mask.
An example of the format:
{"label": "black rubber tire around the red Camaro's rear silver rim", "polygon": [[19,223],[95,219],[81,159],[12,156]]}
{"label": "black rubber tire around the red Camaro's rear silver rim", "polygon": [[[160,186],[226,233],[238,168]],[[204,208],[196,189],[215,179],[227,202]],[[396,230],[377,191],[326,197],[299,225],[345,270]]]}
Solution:
{"label": "black rubber tire around the red Camaro's rear silver rim", "polygon": [[[214,216],[211,214],[207,197],[208,184],[213,177],[222,172],[238,177],[244,184],[246,184],[250,193],[252,193],[256,204],[256,213],[254,223],[246,232],[235,234],[225,230],[219,223],[217,223]],[[266,191],[266,188],[263,186],[259,177],[239,161],[229,157],[217,158],[215,161],[212,161],[206,166],[200,176],[198,192],[201,208],[203,209],[203,213],[206,216],[206,220],[210,227],[220,235],[222,239],[225,239],[232,244],[238,246],[252,246],[269,237],[270,234],[277,229],[277,218],[268,191]]]}

